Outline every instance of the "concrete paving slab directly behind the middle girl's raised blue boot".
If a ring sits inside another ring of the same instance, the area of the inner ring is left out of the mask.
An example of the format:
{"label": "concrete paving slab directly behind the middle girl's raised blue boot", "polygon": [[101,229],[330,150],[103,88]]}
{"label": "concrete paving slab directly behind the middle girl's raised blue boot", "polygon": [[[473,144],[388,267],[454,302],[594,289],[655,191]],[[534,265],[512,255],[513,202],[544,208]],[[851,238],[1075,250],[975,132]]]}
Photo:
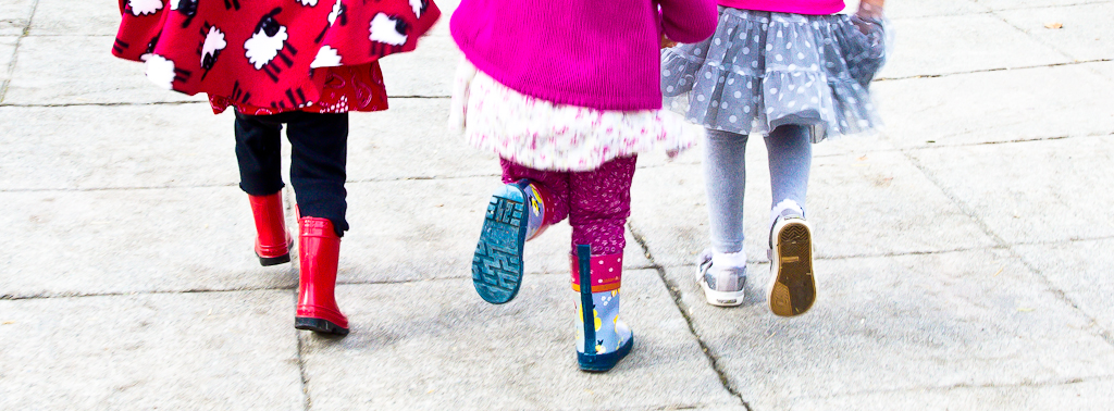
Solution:
{"label": "concrete paving slab directly behind the middle girl's raised blue boot", "polygon": [[[471,278],[472,254],[498,177],[350,183],[340,281]],[[527,273],[568,273],[568,223],[526,244]],[[627,268],[651,266],[627,235]]]}

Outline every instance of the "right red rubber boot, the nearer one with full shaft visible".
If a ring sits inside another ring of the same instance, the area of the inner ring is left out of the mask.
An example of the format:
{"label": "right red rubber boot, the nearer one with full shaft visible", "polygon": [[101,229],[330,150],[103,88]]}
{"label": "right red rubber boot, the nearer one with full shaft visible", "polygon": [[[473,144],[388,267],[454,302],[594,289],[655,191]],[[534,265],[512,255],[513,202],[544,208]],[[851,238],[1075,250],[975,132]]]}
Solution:
{"label": "right red rubber boot, the nearer one with full shaft visible", "polygon": [[333,296],[336,286],[336,261],[341,237],[326,218],[300,218],[299,255],[302,275],[297,286],[297,314],[294,327],[319,333],[348,335],[348,319]]}

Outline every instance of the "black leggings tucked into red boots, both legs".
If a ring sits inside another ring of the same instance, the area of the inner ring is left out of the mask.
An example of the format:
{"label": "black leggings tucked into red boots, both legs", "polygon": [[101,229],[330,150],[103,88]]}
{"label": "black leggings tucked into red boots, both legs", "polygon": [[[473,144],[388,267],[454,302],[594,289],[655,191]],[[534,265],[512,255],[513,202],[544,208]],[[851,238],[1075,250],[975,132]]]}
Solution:
{"label": "black leggings tucked into red boots, both legs", "polygon": [[292,146],[290,179],[303,217],[328,218],[338,235],[344,219],[348,114],[286,111],[270,116],[236,112],[240,188],[254,196],[275,194],[282,182],[282,125]]}

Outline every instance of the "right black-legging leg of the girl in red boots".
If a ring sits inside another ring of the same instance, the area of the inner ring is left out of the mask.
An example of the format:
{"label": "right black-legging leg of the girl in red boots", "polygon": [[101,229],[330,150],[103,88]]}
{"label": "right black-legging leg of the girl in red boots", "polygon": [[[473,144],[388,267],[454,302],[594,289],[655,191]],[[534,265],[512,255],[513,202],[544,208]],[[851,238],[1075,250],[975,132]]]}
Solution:
{"label": "right black-legging leg of the girl in red boots", "polygon": [[291,111],[286,137],[291,144],[290,183],[303,217],[328,218],[336,235],[349,229],[344,213],[348,114]]}

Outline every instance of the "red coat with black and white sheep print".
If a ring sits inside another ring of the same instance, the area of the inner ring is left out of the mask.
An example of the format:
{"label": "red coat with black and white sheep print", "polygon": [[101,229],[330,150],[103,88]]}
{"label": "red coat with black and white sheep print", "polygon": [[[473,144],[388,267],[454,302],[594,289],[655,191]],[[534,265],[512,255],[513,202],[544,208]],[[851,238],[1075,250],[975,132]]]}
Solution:
{"label": "red coat with black and white sheep print", "polygon": [[387,108],[378,60],[411,51],[441,12],[432,0],[119,0],[113,55],[147,78],[206,92],[219,112]]}

